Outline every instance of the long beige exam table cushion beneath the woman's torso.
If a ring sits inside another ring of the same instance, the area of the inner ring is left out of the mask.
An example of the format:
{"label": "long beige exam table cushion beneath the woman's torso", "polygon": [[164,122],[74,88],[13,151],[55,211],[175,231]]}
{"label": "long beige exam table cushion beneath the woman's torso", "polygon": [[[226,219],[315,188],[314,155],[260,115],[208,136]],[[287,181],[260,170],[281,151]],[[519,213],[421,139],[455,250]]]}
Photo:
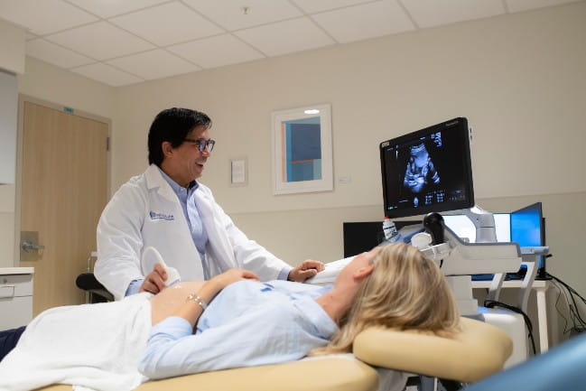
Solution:
{"label": "long beige exam table cushion beneath the woman's torso", "polygon": [[[349,358],[331,357],[253,368],[226,369],[153,380],[137,391],[376,391],[377,371]],[[71,391],[54,385],[42,391]]]}

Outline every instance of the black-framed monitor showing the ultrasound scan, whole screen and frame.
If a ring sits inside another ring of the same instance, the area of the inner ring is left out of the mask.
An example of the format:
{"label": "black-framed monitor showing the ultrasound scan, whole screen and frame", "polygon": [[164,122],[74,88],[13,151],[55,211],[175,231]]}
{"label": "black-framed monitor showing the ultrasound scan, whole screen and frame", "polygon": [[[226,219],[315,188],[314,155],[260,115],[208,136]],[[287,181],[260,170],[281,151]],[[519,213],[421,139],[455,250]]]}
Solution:
{"label": "black-framed monitor showing the ultrasound scan, whole screen and frame", "polygon": [[454,118],[379,145],[385,216],[474,205],[468,121]]}

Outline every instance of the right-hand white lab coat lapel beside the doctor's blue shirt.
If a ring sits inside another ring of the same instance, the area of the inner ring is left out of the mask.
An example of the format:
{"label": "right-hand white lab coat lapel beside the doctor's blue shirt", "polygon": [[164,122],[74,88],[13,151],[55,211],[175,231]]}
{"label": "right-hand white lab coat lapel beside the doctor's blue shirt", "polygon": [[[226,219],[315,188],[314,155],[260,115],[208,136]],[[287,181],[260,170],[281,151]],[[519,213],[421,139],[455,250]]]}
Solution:
{"label": "right-hand white lab coat lapel beside the doctor's blue shirt", "polygon": [[203,227],[208,234],[213,260],[220,266],[222,271],[239,267],[223,223],[214,209],[214,201],[209,200],[206,194],[200,190],[195,191],[194,197],[198,209],[200,209]]}

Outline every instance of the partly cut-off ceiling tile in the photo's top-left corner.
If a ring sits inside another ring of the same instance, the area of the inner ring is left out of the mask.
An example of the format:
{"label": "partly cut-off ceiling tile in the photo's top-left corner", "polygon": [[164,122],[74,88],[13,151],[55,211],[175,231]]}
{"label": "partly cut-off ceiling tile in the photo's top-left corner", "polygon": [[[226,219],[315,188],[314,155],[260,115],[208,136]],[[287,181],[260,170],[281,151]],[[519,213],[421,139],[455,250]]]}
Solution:
{"label": "partly cut-off ceiling tile in the photo's top-left corner", "polygon": [[20,24],[38,35],[98,20],[61,0],[0,0],[0,18]]}

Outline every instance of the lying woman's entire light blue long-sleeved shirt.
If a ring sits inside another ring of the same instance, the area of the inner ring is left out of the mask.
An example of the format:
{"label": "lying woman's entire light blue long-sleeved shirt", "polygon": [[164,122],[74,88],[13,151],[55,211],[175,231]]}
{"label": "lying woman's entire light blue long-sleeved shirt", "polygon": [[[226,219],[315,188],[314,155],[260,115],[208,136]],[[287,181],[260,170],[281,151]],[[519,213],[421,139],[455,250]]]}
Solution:
{"label": "lying woman's entire light blue long-sleeved shirt", "polygon": [[230,284],[203,312],[195,334],[175,316],[154,326],[139,370],[163,378],[302,358],[338,331],[314,301],[329,289],[287,281]]}

